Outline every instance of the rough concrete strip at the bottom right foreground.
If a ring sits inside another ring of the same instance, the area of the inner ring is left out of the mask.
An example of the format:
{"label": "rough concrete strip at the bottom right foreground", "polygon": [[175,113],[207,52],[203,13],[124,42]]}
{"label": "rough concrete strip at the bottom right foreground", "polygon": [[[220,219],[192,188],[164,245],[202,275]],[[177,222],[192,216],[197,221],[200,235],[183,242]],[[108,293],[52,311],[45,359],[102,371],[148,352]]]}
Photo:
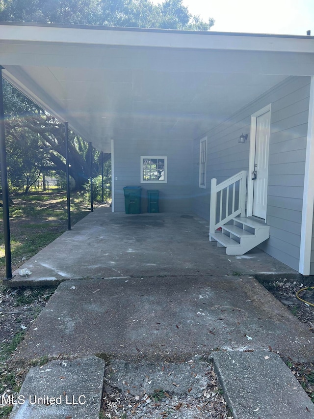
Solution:
{"label": "rough concrete strip at the bottom right foreground", "polygon": [[216,352],[213,361],[235,419],[314,418],[314,404],[277,354]]}

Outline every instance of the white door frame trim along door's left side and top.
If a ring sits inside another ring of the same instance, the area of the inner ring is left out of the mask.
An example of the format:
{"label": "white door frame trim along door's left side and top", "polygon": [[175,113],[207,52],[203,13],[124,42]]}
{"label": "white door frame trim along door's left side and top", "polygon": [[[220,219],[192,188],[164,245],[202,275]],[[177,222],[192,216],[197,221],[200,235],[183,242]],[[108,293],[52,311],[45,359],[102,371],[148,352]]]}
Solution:
{"label": "white door frame trim along door's left side and top", "polygon": [[[253,215],[253,191],[254,180],[252,179],[253,171],[255,170],[255,144],[256,144],[256,121],[263,113],[271,112],[271,103],[259,111],[251,115],[251,131],[250,131],[250,155],[249,155],[249,171],[248,171],[248,184],[247,184],[247,217]],[[267,214],[266,214],[267,217]],[[266,220],[265,220],[266,223]]]}

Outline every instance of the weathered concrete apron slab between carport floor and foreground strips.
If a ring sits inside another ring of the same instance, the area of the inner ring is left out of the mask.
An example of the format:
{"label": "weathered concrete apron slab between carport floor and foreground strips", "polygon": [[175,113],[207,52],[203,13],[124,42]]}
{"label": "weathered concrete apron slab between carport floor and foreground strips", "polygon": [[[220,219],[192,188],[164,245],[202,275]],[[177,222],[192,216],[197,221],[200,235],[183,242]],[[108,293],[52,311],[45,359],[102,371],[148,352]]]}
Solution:
{"label": "weathered concrete apron slab between carport floor and foreground strips", "polygon": [[314,361],[314,334],[253,278],[76,279],[59,285],[16,356],[177,361],[269,346]]}

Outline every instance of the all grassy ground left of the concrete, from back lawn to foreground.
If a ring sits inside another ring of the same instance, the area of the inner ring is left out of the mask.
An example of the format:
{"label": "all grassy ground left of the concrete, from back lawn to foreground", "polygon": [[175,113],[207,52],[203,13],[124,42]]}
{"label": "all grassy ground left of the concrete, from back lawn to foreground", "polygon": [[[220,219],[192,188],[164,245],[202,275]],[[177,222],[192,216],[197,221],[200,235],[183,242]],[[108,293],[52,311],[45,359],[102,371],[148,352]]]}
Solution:
{"label": "all grassy ground left of the concrete, from back lawn to foreground", "polygon": [[[64,192],[11,194],[10,207],[12,271],[43,249],[67,229],[67,199]],[[71,224],[90,212],[80,193],[71,197]],[[0,209],[0,278],[5,277],[3,216]],[[31,364],[16,365],[12,354],[53,294],[56,286],[7,288],[0,285],[0,395],[17,394]],[[41,360],[46,362],[47,360]],[[12,406],[0,406],[0,418],[8,418]]]}

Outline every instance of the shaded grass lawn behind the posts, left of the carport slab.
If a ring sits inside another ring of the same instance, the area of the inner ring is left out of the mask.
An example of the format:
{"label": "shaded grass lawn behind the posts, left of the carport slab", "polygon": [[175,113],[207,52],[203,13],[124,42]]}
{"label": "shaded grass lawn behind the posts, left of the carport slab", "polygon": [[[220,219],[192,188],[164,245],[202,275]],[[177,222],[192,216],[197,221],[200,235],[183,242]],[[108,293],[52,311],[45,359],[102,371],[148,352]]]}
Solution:
{"label": "shaded grass lawn behind the posts, left of the carport slab", "polygon": [[[64,192],[11,194],[10,232],[12,271],[46,247],[67,229],[67,199]],[[71,224],[90,211],[80,193],[71,197]],[[2,224],[2,211],[0,211]],[[25,258],[25,259],[24,259]],[[22,260],[23,259],[23,260]],[[0,229],[0,278],[5,277],[3,227]]]}

